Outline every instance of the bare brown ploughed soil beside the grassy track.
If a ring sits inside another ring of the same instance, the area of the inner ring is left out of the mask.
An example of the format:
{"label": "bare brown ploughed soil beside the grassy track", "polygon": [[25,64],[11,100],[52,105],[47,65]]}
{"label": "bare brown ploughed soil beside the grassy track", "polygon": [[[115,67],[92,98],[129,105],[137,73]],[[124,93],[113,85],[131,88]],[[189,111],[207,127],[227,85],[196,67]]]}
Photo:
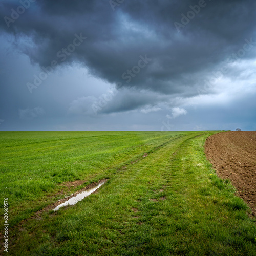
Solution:
{"label": "bare brown ploughed soil beside the grassy track", "polygon": [[212,135],[206,140],[205,154],[218,176],[231,181],[256,216],[256,132]]}

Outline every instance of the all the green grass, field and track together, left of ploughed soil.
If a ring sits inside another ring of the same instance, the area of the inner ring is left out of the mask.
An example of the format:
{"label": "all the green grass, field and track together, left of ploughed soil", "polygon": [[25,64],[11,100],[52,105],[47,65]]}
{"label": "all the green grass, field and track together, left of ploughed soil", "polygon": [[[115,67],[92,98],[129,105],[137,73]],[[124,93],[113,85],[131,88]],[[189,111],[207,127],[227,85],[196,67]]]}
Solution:
{"label": "all the green grass, field and track together, left of ploughed soil", "polygon": [[[0,132],[8,253],[256,255],[255,220],[204,155],[214,133]],[[35,216],[101,179],[76,205]]]}

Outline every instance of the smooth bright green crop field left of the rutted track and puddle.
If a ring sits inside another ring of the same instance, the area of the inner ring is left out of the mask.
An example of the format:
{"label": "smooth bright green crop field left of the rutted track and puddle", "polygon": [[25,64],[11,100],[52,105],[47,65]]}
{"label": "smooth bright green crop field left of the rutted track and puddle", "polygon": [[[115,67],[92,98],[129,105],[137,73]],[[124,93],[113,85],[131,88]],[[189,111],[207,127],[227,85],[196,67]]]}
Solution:
{"label": "smooth bright green crop field left of the rutted track and puddle", "polygon": [[9,199],[9,225],[29,218],[62,194],[72,194],[74,190],[68,191],[63,182],[81,180],[84,187],[186,134],[0,132],[0,195]]}

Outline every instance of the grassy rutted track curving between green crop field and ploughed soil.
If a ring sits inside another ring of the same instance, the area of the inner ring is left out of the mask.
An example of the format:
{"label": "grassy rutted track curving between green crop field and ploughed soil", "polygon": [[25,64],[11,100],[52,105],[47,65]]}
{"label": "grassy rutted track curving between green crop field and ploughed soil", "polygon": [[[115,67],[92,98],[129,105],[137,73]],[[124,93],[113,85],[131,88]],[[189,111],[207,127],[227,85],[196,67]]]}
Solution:
{"label": "grassy rutted track curving between green crop field and ploughed soil", "polygon": [[165,137],[109,168],[97,193],[13,228],[10,254],[255,255],[247,206],[205,158],[210,134]]}

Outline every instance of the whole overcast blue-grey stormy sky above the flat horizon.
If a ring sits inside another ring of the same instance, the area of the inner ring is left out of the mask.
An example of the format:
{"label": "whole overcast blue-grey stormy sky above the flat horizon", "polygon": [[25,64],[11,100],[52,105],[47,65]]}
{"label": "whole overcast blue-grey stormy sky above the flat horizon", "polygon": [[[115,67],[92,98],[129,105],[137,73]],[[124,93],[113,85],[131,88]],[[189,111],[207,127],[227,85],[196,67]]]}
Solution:
{"label": "whole overcast blue-grey stormy sky above the flat horizon", "polygon": [[255,0],[2,0],[0,131],[255,131],[255,14]]}

